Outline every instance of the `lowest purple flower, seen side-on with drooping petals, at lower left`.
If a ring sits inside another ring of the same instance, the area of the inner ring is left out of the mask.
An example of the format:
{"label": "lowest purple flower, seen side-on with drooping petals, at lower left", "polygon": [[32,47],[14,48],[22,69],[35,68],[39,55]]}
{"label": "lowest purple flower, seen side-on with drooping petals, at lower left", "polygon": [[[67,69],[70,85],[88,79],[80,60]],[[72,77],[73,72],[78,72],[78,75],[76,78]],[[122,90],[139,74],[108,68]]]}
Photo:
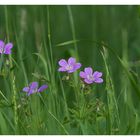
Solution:
{"label": "lowest purple flower, seen side-on with drooping petals, at lower left", "polygon": [[40,88],[38,88],[38,82],[32,82],[28,87],[24,87],[23,91],[30,94],[37,93],[37,92],[43,92],[46,88],[48,88],[48,85],[42,85]]}

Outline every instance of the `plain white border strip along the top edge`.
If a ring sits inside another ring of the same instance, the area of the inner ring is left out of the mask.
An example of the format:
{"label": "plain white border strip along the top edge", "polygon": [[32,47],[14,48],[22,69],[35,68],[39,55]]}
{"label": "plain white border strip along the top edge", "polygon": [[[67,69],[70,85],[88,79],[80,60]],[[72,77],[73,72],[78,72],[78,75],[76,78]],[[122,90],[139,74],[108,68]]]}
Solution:
{"label": "plain white border strip along the top edge", "polygon": [[139,0],[0,0],[1,5],[140,5]]}

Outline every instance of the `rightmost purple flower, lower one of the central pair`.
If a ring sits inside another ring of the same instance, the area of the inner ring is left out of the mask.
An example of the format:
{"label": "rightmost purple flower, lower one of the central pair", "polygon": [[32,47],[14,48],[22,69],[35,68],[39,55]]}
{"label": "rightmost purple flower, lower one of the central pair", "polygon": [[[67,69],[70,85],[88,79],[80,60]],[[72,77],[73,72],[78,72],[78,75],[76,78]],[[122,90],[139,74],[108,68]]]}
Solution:
{"label": "rightmost purple flower, lower one of the central pair", "polygon": [[84,69],[84,72],[80,72],[80,77],[84,79],[84,82],[87,84],[92,83],[102,83],[103,79],[101,78],[102,72],[95,71],[93,73],[93,70],[91,67],[87,67]]}

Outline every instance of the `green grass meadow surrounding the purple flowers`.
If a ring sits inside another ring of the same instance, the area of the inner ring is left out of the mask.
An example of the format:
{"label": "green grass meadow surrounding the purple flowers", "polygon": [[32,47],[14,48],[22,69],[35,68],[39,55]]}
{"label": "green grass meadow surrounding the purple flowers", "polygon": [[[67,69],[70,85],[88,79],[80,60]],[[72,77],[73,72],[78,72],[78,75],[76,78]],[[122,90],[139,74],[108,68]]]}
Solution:
{"label": "green grass meadow surrounding the purple flowers", "polygon": [[[139,6],[0,6],[1,135],[140,134]],[[82,67],[59,72],[60,59]],[[103,73],[86,85],[85,67]],[[22,91],[46,83],[42,93]]]}

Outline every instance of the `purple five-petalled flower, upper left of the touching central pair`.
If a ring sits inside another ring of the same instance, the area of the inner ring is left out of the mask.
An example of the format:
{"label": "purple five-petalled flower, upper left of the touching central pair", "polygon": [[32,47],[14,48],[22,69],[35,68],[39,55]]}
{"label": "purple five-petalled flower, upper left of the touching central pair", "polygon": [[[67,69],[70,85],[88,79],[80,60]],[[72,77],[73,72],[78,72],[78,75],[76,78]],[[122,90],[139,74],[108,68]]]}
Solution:
{"label": "purple five-petalled flower, upper left of the touching central pair", "polygon": [[76,63],[76,59],[73,57],[70,57],[68,62],[65,59],[61,59],[58,63],[60,65],[58,71],[61,72],[73,73],[81,67],[81,63]]}

